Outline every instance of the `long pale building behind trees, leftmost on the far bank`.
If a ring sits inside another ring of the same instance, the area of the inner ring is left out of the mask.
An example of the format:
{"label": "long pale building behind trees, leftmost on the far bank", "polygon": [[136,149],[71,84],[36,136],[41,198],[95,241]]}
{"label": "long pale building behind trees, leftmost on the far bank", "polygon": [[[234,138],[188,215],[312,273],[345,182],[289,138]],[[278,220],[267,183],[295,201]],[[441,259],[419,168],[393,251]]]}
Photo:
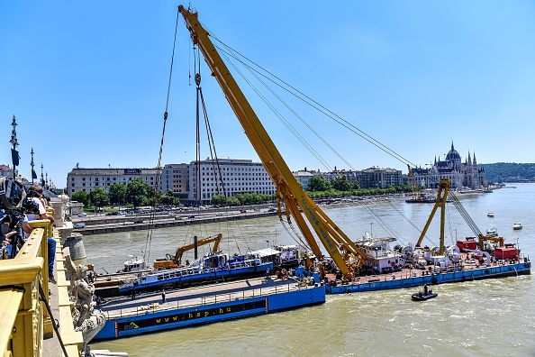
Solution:
{"label": "long pale building behind trees, leftmost on the far bank", "polygon": [[[68,196],[79,191],[91,192],[94,188],[109,191],[114,183],[128,185],[133,178],[141,178],[143,182],[156,188],[158,169],[72,169],[67,175]],[[159,183],[161,188],[161,183]],[[158,189],[158,188],[157,188]]]}

